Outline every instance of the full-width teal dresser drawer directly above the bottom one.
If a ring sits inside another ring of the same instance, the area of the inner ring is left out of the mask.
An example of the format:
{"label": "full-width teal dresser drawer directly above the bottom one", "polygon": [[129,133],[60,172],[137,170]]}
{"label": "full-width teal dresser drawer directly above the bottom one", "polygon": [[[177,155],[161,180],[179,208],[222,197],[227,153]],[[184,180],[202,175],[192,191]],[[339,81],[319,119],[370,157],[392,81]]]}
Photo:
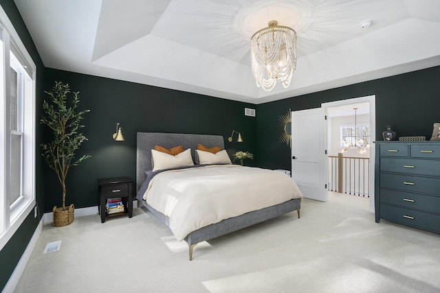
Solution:
{"label": "full-width teal dresser drawer directly above the bottom one", "polygon": [[405,191],[380,189],[380,202],[395,204],[408,209],[440,213],[439,196],[425,196],[423,194],[411,194]]}

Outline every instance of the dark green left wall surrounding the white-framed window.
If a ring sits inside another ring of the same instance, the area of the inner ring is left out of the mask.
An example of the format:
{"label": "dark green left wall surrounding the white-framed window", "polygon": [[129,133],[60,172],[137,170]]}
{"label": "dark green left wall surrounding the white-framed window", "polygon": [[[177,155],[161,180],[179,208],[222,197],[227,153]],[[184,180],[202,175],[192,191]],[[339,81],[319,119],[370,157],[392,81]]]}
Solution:
{"label": "dark green left wall surrounding the white-framed window", "polygon": [[[12,0],[0,0],[0,5],[3,10],[8,14],[12,25],[14,25],[15,30],[19,34],[21,41],[25,45],[26,49],[28,49],[29,54],[32,56],[32,60],[34,60],[37,73],[36,73],[36,107],[41,107],[41,84],[43,84],[44,80],[44,66],[41,58],[39,56],[38,51],[36,51],[34,42],[23,23],[23,19],[17,10],[17,7]],[[40,132],[37,127],[36,129],[36,144],[39,145]],[[39,156],[39,150],[36,151],[36,156]],[[39,163],[39,160],[36,161],[36,201],[40,204],[43,202],[43,194],[41,193],[41,182],[44,178],[42,172],[42,165]],[[0,288],[3,288],[10,278],[10,275],[14,271],[15,266],[19,262],[21,255],[25,251],[25,248],[28,246],[28,242],[30,241],[36,226],[39,223],[39,218],[34,218],[34,211],[32,210],[27,216],[26,220],[21,224],[19,229],[14,233],[9,242],[0,250]]]}

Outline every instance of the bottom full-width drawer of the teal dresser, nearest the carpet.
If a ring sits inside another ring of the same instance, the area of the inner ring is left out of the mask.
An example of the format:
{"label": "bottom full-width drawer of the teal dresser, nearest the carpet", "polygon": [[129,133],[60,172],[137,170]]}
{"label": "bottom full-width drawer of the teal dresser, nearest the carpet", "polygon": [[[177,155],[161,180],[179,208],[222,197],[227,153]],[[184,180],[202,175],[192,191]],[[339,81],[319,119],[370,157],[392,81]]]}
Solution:
{"label": "bottom full-width drawer of the teal dresser, nearest the carpet", "polygon": [[380,204],[380,218],[408,226],[440,232],[440,215]]}

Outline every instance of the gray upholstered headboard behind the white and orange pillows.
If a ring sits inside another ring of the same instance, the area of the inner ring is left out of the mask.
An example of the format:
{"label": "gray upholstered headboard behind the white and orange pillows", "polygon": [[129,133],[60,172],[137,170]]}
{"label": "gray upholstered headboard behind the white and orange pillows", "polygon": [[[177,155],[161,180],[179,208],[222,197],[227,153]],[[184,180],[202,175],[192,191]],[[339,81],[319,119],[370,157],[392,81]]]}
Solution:
{"label": "gray upholstered headboard behind the white and orange pillows", "polygon": [[225,148],[225,142],[221,135],[137,132],[136,192],[139,191],[146,178],[145,172],[151,170],[151,150],[155,145],[164,148],[182,145],[184,150],[190,148],[192,160],[194,161],[195,150],[197,150],[199,143],[207,148],[213,146],[220,146],[221,150]]}

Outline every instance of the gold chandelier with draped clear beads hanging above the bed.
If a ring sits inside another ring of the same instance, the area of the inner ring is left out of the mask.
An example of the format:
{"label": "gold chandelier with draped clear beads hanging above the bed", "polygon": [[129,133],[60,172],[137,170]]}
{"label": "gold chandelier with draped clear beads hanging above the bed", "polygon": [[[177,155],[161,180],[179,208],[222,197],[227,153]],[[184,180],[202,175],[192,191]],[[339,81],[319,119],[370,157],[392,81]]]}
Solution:
{"label": "gold chandelier with draped clear beads hanging above the bed", "polygon": [[256,86],[272,91],[276,82],[285,89],[292,82],[296,68],[296,32],[270,21],[250,39],[252,73]]}

